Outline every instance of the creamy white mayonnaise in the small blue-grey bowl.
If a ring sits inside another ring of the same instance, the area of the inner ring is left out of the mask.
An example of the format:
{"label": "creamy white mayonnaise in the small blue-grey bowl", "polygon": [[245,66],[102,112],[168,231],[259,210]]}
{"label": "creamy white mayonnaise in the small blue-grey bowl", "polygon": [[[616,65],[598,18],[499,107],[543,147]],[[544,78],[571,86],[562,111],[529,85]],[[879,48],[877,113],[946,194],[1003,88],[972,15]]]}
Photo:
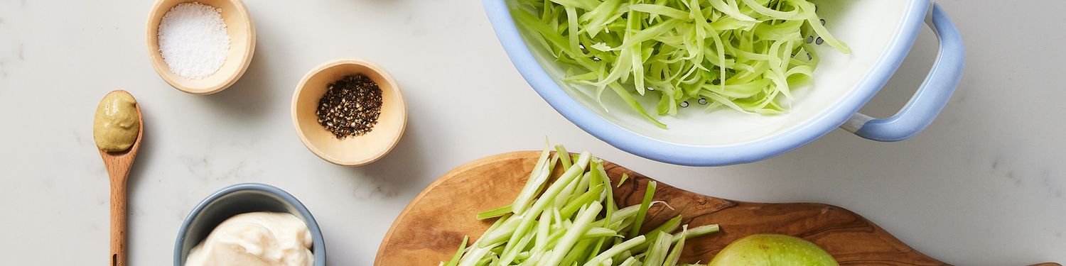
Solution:
{"label": "creamy white mayonnaise in the small blue-grey bowl", "polygon": [[310,266],[311,232],[287,213],[245,213],[226,219],[193,247],[185,266]]}

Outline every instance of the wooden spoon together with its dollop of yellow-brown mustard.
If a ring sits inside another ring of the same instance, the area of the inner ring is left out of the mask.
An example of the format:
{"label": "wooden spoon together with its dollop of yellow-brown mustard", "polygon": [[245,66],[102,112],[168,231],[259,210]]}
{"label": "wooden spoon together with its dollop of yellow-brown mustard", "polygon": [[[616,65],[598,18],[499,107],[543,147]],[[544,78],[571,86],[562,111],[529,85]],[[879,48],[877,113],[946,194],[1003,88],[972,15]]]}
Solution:
{"label": "wooden spoon together with its dollop of yellow-brown mustard", "polygon": [[126,266],[126,180],[141,148],[144,119],[133,95],[109,93],[96,107],[93,140],[111,179],[111,266]]}

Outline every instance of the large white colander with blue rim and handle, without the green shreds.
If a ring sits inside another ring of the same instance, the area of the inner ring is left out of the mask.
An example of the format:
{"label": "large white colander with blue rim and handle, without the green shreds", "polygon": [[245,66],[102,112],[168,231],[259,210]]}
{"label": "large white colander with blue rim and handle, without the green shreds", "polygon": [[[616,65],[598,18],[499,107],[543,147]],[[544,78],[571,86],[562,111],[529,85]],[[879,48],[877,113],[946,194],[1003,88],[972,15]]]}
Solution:
{"label": "large white colander with blue rim and handle, without the green shreds", "polygon": [[[529,41],[530,33],[512,18],[511,12],[524,12],[516,9],[516,0],[483,1],[512,63],[560,114],[614,147],[678,165],[756,162],[796,149],[837,127],[879,142],[909,138],[932,123],[948,103],[965,62],[958,31],[931,0],[811,0],[829,31],[847,43],[852,53],[840,53],[827,45],[815,46],[821,63],[813,85],[793,88],[788,114],[681,110],[677,117],[658,117],[669,126],[661,129],[641,118],[610,89],[602,102],[597,102],[591,93],[594,89],[563,82],[568,66]],[[923,24],[937,34],[940,50],[914,98],[889,118],[857,113],[899,68]],[[641,99],[645,109],[655,106],[656,100]],[[689,105],[699,106],[695,102]]]}

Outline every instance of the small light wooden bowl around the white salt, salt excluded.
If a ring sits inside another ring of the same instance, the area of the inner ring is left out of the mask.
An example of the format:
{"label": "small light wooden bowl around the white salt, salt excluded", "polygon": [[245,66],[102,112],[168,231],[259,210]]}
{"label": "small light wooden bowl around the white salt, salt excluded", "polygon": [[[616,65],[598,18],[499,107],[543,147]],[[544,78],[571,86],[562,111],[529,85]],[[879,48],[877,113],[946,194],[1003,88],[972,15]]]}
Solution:
{"label": "small light wooden bowl around the white salt, salt excluded", "polygon": [[[171,71],[159,51],[159,22],[163,15],[179,3],[199,2],[222,10],[222,19],[226,21],[226,32],[229,34],[229,54],[219,71],[199,80],[190,80]],[[158,0],[148,15],[147,33],[148,57],[166,83],[175,88],[195,95],[209,95],[222,92],[233,85],[244,74],[252,63],[252,54],[256,50],[256,27],[252,15],[241,0]]]}

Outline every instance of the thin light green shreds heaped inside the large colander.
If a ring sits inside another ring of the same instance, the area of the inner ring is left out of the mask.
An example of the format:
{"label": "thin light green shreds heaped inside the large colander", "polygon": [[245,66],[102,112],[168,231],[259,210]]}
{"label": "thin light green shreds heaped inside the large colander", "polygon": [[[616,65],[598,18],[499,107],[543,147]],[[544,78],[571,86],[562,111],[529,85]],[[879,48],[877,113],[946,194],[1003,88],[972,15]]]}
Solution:
{"label": "thin light green shreds heaped inside the large colander", "polygon": [[637,97],[658,99],[660,116],[697,102],[708,111],[781,114],[791,88],[813,80],[814,46],[824,40],[851,53],[807,0],[517,3],[515,20],[531,33],[531,43],[567,66],[565,82],[592,87],[597,101],[610,88],[661,128],[666,124],[648,115]]}

